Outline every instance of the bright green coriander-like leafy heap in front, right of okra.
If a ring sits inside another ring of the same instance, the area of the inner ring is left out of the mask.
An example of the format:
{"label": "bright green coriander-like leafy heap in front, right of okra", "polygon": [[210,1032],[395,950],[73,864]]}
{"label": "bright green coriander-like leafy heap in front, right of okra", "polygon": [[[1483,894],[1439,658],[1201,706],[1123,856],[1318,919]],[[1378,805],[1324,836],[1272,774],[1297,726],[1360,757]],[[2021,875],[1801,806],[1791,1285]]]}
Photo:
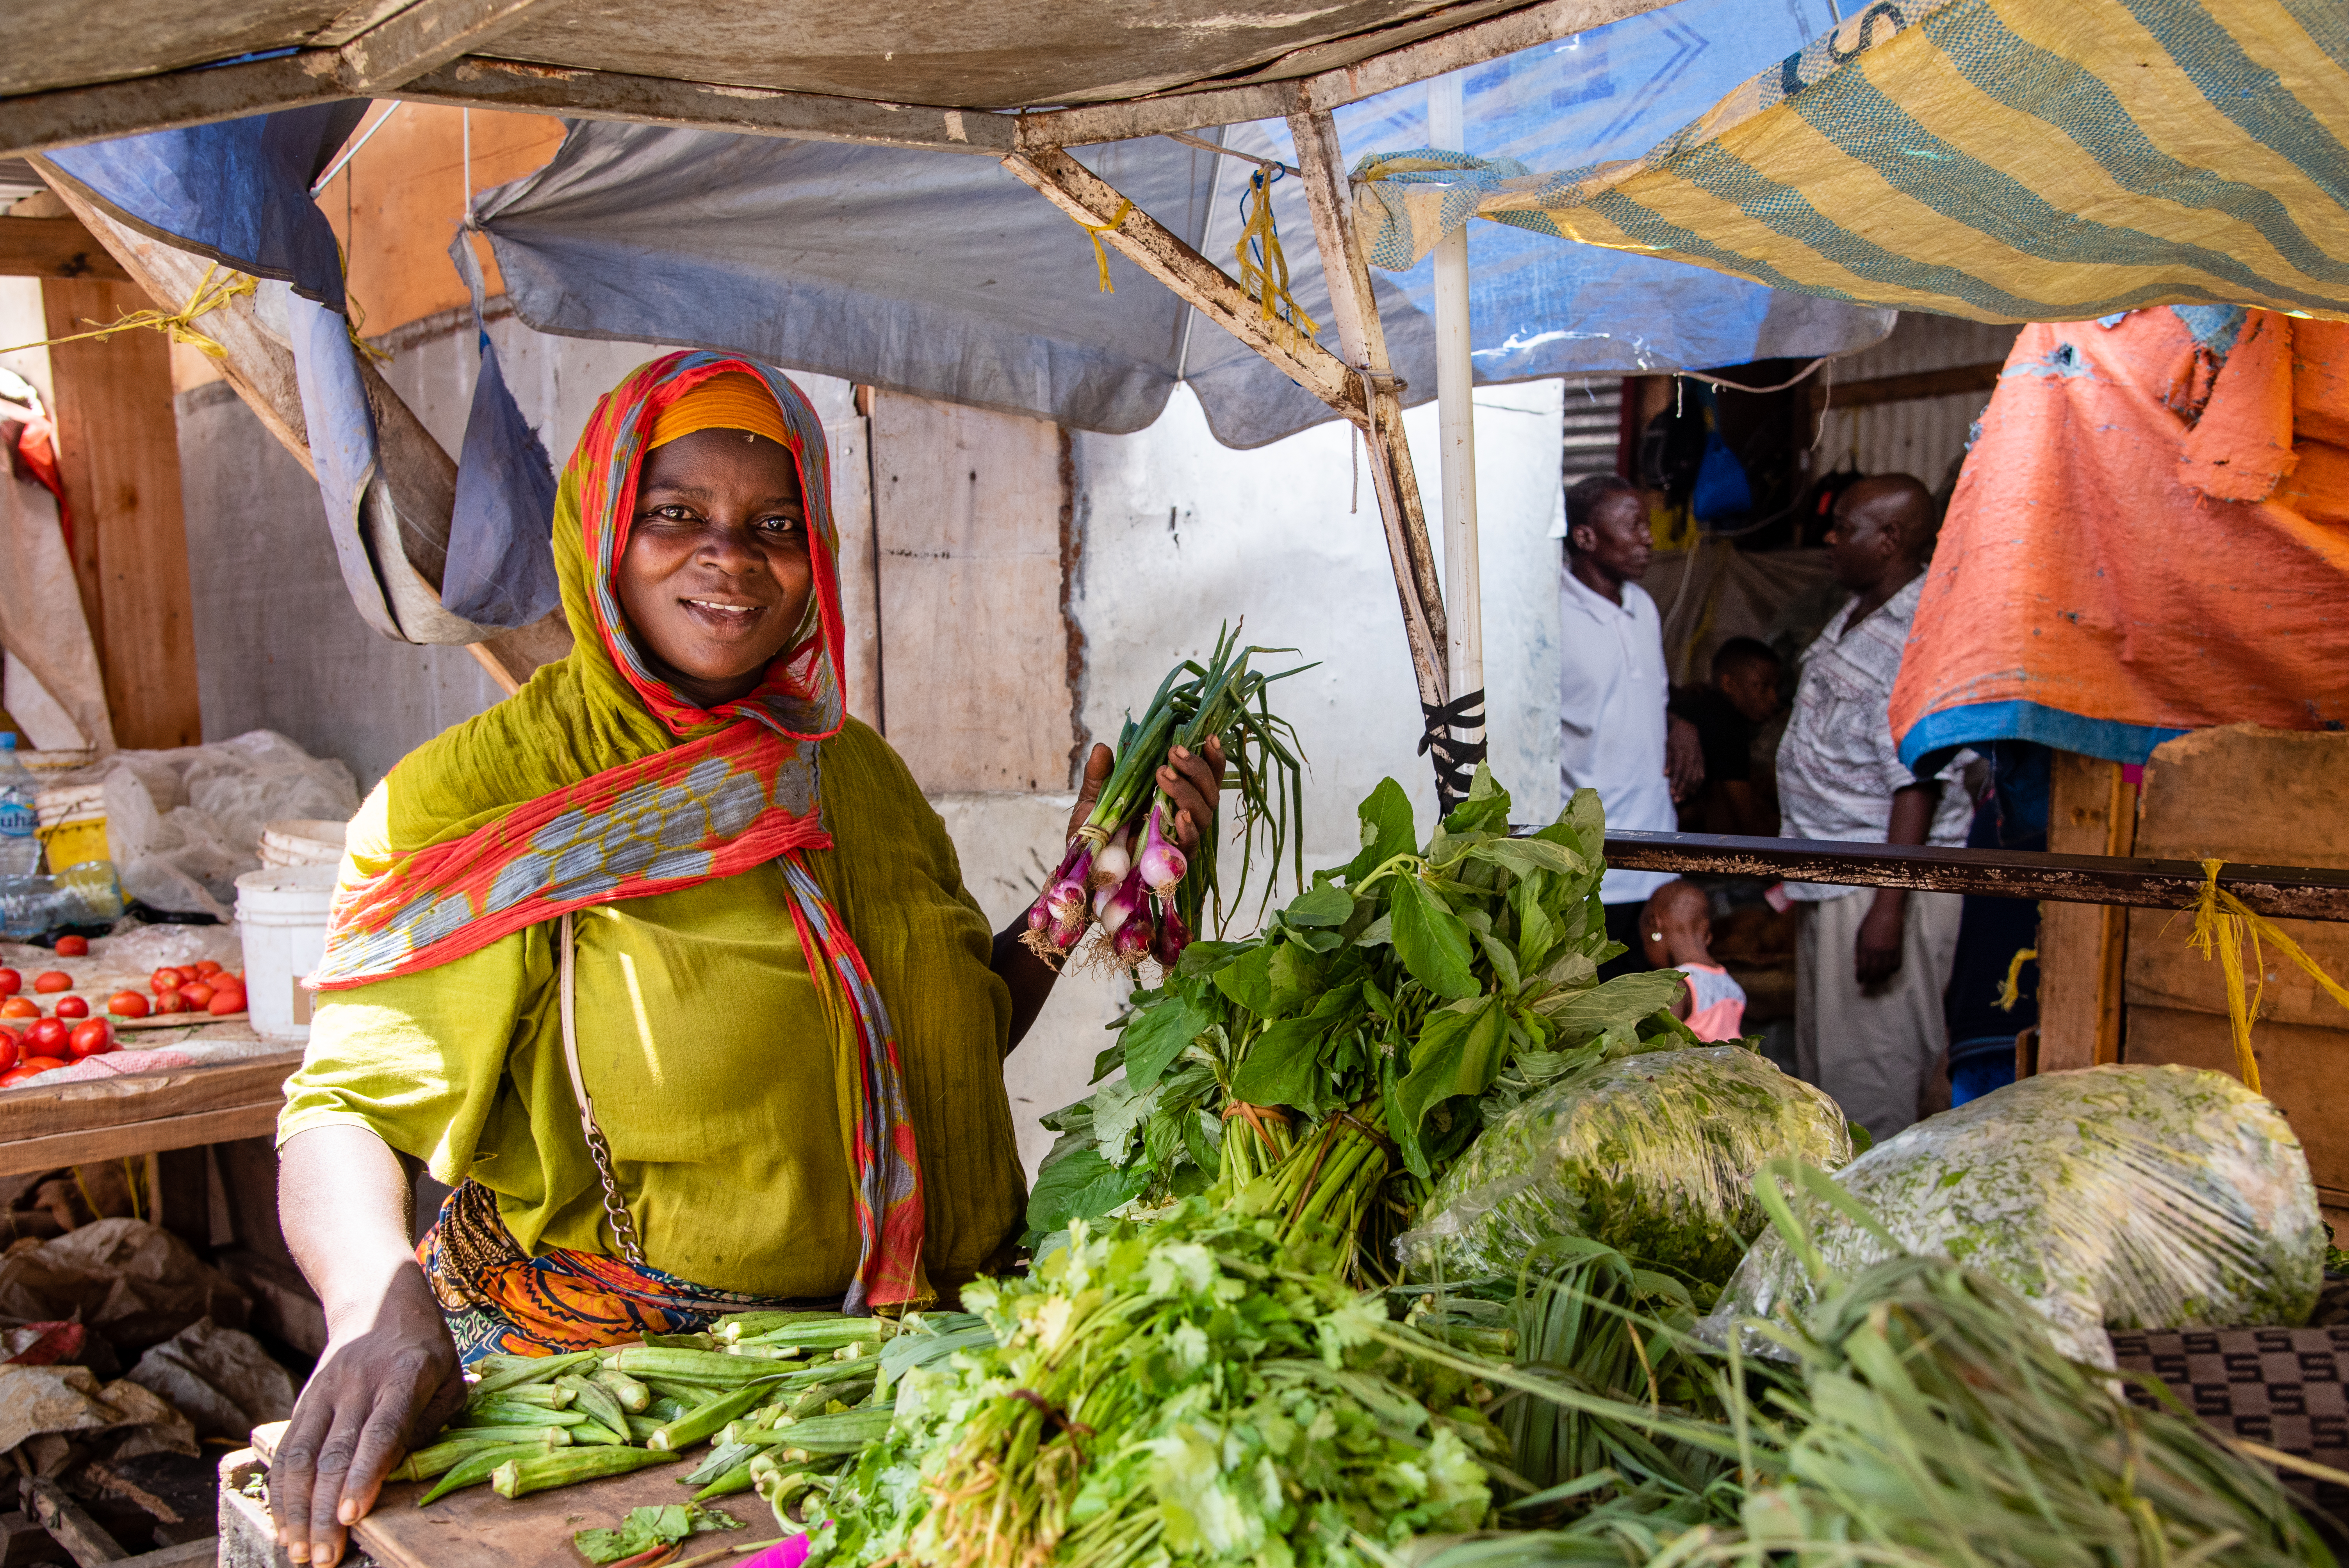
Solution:
{"label": "bright green coriander-like leafy heap in front, right of okra", "polygon": [[1268,1221],[1191,1199],[1146,1228],[1078,1223],[963,1300],[996,1343],[904,1378],[813,1568],[1351,1568],[1362,1542],[1489,1514],[1503,1444],[1473,1371],[1412,1354],[1377,1296],[1304,1272]]}

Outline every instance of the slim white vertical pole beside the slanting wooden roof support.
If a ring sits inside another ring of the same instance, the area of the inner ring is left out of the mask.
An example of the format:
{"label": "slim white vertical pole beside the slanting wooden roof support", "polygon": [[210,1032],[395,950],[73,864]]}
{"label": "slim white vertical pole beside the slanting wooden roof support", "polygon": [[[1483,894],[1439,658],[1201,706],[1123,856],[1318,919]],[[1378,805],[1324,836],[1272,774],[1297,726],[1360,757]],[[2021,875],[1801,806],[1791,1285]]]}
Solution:
{"label": "slim white vertical pole beside the slanting wooden roof support", "polygon": [[[1466,108],[1459,70],[1428,82],[1428,146],[1466,153]],[[1485,610],[1475,549],[1475,369],[1468,359],[1468,232],[1435,246],[1435,418],[1438,474],[1445,516],[1445,657],[1452,695],[1485,690]],[[1463,725],[1461,742],[1485,739],[1485,725]]]}

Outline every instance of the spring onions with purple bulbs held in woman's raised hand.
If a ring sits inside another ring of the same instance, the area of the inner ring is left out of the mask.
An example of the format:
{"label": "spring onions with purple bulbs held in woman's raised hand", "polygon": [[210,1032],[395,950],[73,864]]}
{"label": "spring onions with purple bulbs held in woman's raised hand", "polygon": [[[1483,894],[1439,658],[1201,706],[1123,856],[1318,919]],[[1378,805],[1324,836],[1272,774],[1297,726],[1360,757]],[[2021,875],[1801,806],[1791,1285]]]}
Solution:
{"label": "spring onions with purple bulbs held in woman's raised hand", "polygon": [[1198,852],[1184,854],[1174,838],[1174,803],[1158,789],[1158,770],[1174,746],[1200,756],[1207,739],[1221,739],[1226,786],[1238,796],[1240,812],[1240,885],[1247,883],[1259,836],[1276,871],[1283,845],[1290,845],[1297,880],[1304,880],[1297,732],[1273,714],[1264,692],[1311,664],[1266,676],[1247,667],[1257,653],[1287,650],[1243,648],[1238,627],[1217,634],[1205,664],[1184,660],[1170,669],[1142,718],[1125,721],[1092,815],[1069,838],[1059,869],[1029,906],[1024,941],[1048,965],[1059,967],[1099,925],[1095,953],[1102,962],[1130,972],[1156,958],[1172,969],[1200,930],[1210,897],[1221,920],[1212,824],[1198,824]]}

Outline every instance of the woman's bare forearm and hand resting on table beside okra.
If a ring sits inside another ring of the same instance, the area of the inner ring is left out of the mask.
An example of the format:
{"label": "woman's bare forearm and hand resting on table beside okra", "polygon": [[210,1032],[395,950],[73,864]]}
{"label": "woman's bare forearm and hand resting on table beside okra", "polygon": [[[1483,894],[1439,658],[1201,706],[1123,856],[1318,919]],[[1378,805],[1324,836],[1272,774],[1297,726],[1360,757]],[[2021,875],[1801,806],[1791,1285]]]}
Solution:
{"label": "woman's bare forearm and hand resting on table beside okra", "polygon": [[406,1237],[406,1174],[364,1127],[315,1127],[280,1150],[287,1244],[327,1307],[327,1354],[270,1462],[277,1542],[341,1561],[411,1444],[465,1401],[465,1378]]}

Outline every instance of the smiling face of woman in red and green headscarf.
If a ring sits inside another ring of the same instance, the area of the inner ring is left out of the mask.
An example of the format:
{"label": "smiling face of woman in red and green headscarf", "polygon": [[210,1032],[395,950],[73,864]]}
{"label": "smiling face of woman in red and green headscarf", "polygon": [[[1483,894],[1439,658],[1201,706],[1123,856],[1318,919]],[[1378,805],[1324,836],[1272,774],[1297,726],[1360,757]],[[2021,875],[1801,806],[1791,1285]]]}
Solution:
{"label": "smiling face of woman in red and green headscarf", "polygon": [[705,709],[747,697],[815,589],[792,453],[745,430],[655,446],[613,587],[637,648],[681,697]]}

